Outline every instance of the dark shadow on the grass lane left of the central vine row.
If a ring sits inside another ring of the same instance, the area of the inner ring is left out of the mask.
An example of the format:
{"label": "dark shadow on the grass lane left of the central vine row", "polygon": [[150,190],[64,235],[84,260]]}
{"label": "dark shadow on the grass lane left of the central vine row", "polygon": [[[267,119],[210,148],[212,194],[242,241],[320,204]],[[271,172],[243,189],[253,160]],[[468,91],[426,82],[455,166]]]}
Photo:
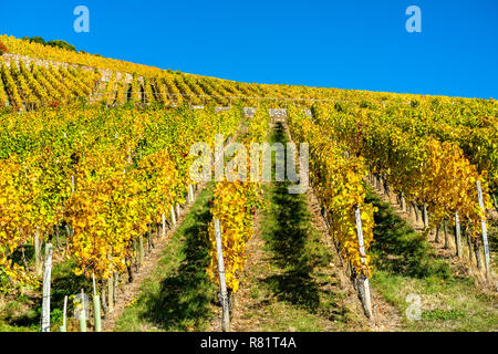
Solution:
{"label": "dark shadow on the grass lane left of the central vine row", "polygon": [[146,310],[142,313],[142,317],[163,330],[198,329],[212,316],[209,303],[214,298],[214,285],[206,273],[209,264],[207,226],[211,219],[207,199],[211,195],[211,192],[209,196],[205,195],[201,198],[203,204],[190,210],[177,230],[178,235],[175,236],[177,240],[170,240],[181,242],[174,250],[177,254],[172,254],[180,258],[179,264],[176,269],[170,269],[169,274],[160,280],[158,291],[146,295]]}

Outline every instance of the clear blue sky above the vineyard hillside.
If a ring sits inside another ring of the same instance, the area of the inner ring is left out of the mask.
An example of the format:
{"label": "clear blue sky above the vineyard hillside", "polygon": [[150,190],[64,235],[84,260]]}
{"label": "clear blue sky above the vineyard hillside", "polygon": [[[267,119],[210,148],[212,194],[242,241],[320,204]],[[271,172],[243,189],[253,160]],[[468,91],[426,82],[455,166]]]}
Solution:
{"label": "clear blue sky above the vineyard hillside", "polygon": [[0,33],[245,82],[498,98],[497,0],[1,0]]}

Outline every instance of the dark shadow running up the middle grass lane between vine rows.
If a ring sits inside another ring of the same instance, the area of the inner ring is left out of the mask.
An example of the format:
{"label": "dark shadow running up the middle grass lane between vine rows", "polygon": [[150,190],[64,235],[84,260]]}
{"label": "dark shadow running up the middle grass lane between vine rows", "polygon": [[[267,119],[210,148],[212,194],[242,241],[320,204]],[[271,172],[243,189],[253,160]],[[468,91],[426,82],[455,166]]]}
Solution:
{"label": "dark shadow running up the middle grass lane between vine rows", "polygon": [[[273,142],[286,143],[282,125],[276,127]],[[271,250],[272,262],[281,274],[267,278],[264,282],[276,295],[310,312],[320,306],[319,284],[311,273],[326,256],[319,253],[309,242],[310,214],[303,195],[291,195],[289,181],[273,183],[270,191],[271,208],[262,225],[262,237]]]}

